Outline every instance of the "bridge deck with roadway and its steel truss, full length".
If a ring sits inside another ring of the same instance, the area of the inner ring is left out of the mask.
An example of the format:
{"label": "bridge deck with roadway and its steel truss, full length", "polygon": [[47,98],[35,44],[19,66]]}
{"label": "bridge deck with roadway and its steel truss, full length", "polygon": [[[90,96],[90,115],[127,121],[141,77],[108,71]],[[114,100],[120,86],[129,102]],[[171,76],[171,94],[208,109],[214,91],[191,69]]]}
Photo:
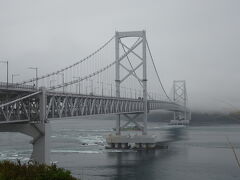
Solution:
{"label": "bridge deck with roadway and its steel truss, full length", "polygon": [[[8,84],[8,87],[0,84],[0,99],[0,123],[37,122],[41,119],[40,113],[45,114],[43,120],[47,121],[52,118],[144,112],[141,98],[63,93],[16,84]],[[151,110],[183,112],[185,107],[169,101],[148,100],[148,111]]]}

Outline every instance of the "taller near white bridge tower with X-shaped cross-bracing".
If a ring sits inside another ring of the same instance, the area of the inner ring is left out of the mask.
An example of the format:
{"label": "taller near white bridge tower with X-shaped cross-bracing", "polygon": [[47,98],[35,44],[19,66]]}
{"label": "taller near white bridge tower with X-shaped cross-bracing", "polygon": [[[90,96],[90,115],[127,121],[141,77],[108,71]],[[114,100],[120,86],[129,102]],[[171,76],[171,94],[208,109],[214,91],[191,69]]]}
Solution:
{"label": "taller near white bridge tower with X-shaped cross-bracing", "polygon": [[[138,37],[139,41],[133,44],[133,46],[128,47],[123,44],[121,39],[123,38],[132,38]],[[126,127],[129,123],[134,123],[140,130],[142,130],[143,135],[147,135],[147,116],[148,116],[148,105],[147,105],[147,59],[146,59],[146,32],[145,31],[132,31],[132,32],[116,32],[115,34],[115,55],[116,55],[116,96],[120,98],[120,86],[129,76],[133,76],[136,80],[139,81],[142,91],[143,91],[143,106],[144,112],[135,114],[118,114],[117,122],[116,122],[116,135],[121,134],[121,128]],[[124,51],[124,54],[120,55],[120,46],[123,46],[128,51]],[[138,47],[142,46],[142,54],[137,54],[134,50]],[[136,67],[128,68],[123,64],[123,61],[129,60],[128,55],[132,53],[139,60],[140,63]],[[136,70],[142,68],[142,77],[139,77],[136,73]],[[121,76],[121,69],[125,69],[128,71],[127,75]],[[135,119],[143,114],[143,125],[140,125],[135,121]],[[125,116],[128,119],[128,122],[121,126],[121,115]]]}

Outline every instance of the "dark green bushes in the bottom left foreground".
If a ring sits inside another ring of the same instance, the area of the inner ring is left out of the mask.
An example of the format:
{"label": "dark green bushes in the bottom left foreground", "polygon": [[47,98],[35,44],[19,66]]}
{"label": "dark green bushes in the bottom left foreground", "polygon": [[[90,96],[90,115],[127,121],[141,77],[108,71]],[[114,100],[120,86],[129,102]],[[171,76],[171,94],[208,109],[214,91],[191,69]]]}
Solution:
{"label": "dark green bushes in the bottom left foreground", "polygon": [[77,180],[70,171],[50,166],[28,162],[21,164],[10,161],[0,161],[0,180]]}

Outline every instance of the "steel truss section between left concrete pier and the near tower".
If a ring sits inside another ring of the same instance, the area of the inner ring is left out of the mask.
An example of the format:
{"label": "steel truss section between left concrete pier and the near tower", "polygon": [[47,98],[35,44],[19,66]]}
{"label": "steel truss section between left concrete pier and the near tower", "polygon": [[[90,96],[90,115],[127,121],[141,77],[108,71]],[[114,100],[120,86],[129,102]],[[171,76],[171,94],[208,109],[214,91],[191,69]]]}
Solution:
{"label": "steel truss section between left concrete pier and the near tower", "polygon": [[[100,96],[47,95],[48,118],[142,112],[143,101]],[[60,112],[60,113],[59,113]]]}

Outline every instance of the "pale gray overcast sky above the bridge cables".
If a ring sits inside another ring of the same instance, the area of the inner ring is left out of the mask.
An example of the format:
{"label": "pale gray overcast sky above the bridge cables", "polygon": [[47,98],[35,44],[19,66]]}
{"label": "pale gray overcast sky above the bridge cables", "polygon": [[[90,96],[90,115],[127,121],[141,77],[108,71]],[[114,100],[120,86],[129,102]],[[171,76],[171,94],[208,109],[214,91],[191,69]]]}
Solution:
{"label": "pale gray overcast sky above the bridge cables", "polygon": [[194,109],[240,109],[239,0],[0,0],[0,58],[22,78],[142,29],[167,91],[185,79]]}

